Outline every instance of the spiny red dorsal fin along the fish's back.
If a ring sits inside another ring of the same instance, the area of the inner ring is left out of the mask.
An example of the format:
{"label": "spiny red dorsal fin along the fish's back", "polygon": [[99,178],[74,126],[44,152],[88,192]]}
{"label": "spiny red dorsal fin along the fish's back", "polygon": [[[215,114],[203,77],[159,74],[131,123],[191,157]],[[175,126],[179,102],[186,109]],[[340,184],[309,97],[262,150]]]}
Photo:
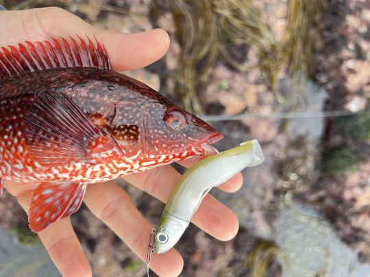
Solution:
{"label": "spiny red dorsal fin along the fish's back", "polygon": [[49,68],[95,67],[111,69],[106,48],[96,38],[96,46],[77,36],[74,38],[51,38],[44,42],[18,44],[0,49],[0,79]]}

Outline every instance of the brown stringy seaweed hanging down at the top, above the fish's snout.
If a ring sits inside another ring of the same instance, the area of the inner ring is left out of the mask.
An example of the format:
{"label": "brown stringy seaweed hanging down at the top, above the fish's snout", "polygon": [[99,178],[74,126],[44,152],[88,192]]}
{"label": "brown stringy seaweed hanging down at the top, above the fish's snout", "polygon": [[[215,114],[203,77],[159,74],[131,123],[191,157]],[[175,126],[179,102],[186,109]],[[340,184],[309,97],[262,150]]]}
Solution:
{"label": "brown stringy seaweed hanging down at the top, above the fish's snout", "polygon": [[[186,109],[203,113],[198,92],[206,85],[217,60],[240,72],[260,68],[280,103],[284,97],[279,93],[278,83],[284,66],[296,81],[298,92],[301,78],[310,77],[321,1],[289,1],[287,26],[281,41],[250,0],[168,0],[167,5],[171,8],[175,37],[182,49],[180,66],[175,72],[175,96]],[[255,51],[258,63],[240,62],[233,57],[230,45],[247,45],[244,49]]]}

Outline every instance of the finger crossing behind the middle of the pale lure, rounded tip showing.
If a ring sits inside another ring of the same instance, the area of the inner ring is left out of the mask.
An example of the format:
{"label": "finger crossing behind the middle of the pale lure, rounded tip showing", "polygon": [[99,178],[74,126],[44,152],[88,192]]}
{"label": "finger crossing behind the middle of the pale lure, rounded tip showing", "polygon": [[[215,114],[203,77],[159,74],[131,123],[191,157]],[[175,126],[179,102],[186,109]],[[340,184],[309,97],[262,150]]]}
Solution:
{"label": "finger crossing behind the middle of the pale lure, rounded tip showing", "polygon": [[[180,174],[171,166],[164,166],[124,177],[132,185],[166,202],[171,195]],[[217,239],[232,239],[238,232],[236,215],[209,194],[201,202],[192,222]]]}

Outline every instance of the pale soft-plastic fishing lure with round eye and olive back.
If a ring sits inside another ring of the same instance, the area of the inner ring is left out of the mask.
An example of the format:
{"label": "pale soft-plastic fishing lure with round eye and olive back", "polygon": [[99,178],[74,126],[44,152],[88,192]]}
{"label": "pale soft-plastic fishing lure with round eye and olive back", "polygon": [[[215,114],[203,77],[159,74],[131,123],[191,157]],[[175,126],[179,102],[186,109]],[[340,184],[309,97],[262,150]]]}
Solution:
{"label": "pale soft-plastic fishing lure with round eye and olive back", "polygon": [[246,167],[257,166],[264,155],[257,140],[199,161],[185,172],[167,201],[155,237],[157,253],[164,253],[180,239],[204,196]]}

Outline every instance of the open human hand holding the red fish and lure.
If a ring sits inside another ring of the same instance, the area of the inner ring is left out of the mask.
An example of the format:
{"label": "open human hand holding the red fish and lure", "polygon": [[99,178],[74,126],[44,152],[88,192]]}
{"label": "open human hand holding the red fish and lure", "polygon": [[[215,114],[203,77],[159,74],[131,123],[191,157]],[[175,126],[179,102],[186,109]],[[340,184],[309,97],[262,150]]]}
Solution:
{"label": "open human hand holding the red fish and lure", "polygon": [[[63,36],[86,34],[96,37],[106,47],[112,68],[116,71],[142,68],[156,62],[169,49],[169,36],[162,29],[136,34],[123,34],[97,29],[82,19],[60,8],[42,8],[0,12],[0,47],[14,45],[25,40],[47,40]],[[197,159],[183,161],[189,167]],[[130,174],[124,179],[166,202],[180,179],[171,166]],[[225,192],[236,192],[243,183],[241,174],[219,186]],[[35,183],[5,181],[5,189],[15,196],[27,212]],[[88,185],[84,202],[88,209],[132,251],[145,261],[151,224],[136,209],[130,196],[114,181]],[[236,215],[221,202],[208,195],[195,213],[192,222],[216,239],[227,241],[238,231]],[[91,267],[81,244],[66,217],[38,233],[40,240],[63,276],[92,276]],[[177,276],[182,272],[184,261],[175,249],[166,254],[153,255],[151,269],[160,276]]]}

